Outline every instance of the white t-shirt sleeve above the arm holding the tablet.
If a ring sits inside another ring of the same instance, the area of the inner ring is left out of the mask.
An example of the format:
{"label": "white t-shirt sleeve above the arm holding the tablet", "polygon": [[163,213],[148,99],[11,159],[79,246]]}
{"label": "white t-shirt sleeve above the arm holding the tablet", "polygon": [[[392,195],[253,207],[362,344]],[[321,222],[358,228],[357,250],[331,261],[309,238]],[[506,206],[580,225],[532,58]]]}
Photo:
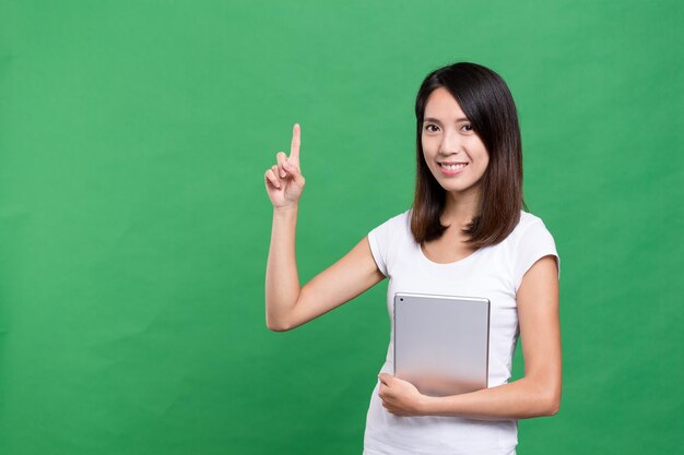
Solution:
{"label": "white t-shirt sleeve above the arm holding the tablet", "polygon": [[522,234],[514,261],[514,284],[516,292],[522,283],[524,274],[540,259],[552,255],[556,259],[558,277],[561,277],[561,260],[556,251],[556,242],[541,219],[532,223]]}

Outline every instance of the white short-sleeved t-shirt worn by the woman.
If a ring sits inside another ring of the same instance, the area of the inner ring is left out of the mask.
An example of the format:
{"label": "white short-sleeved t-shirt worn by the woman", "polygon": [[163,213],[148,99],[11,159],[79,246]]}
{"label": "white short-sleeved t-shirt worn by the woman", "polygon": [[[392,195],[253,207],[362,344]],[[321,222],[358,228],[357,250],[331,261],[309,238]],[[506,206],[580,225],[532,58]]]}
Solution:
{"label": "white short-sleeved t-shirt worn by the woman", "polygon": [[[390,342],[381,372],[394,367],[393,296],[418,292],[486,297],[491,301],[488,386],[508,382],[518,339],[516,294],[526,272],[541,258],[554,255],[553,237],[542,220],[521,212],[520,221],[500,243],[482,248],[450,264],[428,260],[411,234],[411,213],[404,212],[376,227],[368,242],[378,268],[389,278],[387,307]],[[364,454],[441,455],[508,454],[518,444],[517,420],[485,421],[457,417],[397,417],[373,391],[366,418]]]}

